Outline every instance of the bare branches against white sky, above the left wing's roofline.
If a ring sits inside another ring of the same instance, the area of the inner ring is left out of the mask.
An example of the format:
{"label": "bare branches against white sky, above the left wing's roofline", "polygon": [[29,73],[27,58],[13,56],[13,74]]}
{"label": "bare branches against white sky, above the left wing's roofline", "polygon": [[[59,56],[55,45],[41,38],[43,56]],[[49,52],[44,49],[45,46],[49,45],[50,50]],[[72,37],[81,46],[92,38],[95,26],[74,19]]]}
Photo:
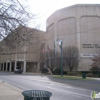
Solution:
{"label": "bare branches against white sky, above the left wing's roofline", "polygon": [[19,25],[27,25],[32,17],[18,0],[0,0],[0,38],[5,38]]}

